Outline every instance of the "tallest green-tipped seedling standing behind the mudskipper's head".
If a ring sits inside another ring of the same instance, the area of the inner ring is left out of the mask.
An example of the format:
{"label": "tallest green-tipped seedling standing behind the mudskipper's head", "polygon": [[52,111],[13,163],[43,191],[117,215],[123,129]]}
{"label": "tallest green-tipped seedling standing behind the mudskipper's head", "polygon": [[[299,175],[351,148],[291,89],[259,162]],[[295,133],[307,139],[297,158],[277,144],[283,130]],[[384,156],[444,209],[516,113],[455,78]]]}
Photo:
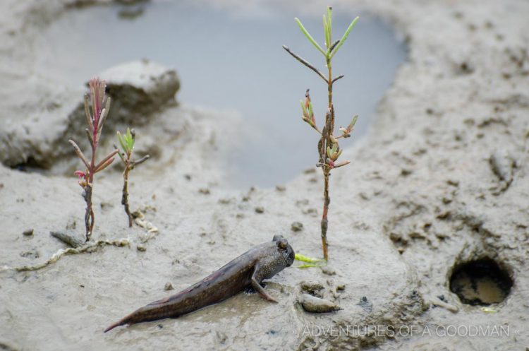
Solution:
{"label": "tallest green-tipped seedling standing behind the mudskipper's head", "polygon": [[322,230],[322,249],[323,249],[323,258],[325,261],[329,258],[328,254],[328,244],[327,244],[327,227],[329,225],[329,220],[327,220],[327,214],[329,212],[329,204],[331,203],[331,198],[329,196],[329,177],[331,175],[331,171],[334,168],[342,167],[345,165],[348,165],[349,161],[343,161],[343,162],[336,162],[338,158],[341,155],[341,148],[338,144],[339,138],[349,138],[351,136],[351,131],[353,131],[353,127],[355,126],[356,119],[358,116],[353,117],[351,120],[351,123],[348,124],[346,128],[340,127],[341,135],[334,136],[334,105],[332,102],[332,88],[334,83],[338,81],[339,79],[343,78],[343,75],[339,75],[333,78],[332,76],[332,58],[338,52],[340,47],[343,45],[343,42],[346,41],[349,32],[353,29],[355,26],[358,17],[351,22],[349,27],[347,28],[346,32],[342,35],[341,39],[336,40],[333,42],[332,40],[332,8],[327,8],[327,13],[323,15],[323,30],[325,35],[325,49],[320,47],[320,44],[318,44],[312,35],[305,29],[303,24],[298,18],[295,18],[296,23],[298,23],[298,26],[307,37],[307,39],[314,45],[314,47],[319,51],[325,58],[325,65],[327,67],[327,76],[324,75],[320,70],[318,70],[314,65],[310,64],[307,60],[303,59],[302,57],[298,56],[297,54],[293,53],[291,49],[289,49],[286,46],[283,46],[283,48],[288,52],[288,54],[291,54],[294,59],[300,61],[301,64],[307,66],[309,69],[314,71],[327,85],[327,92],[328,92],[328,104],[327,104],[327,112],[325,113],[325,119],[324,124],[322,126],[322,129],[320,129],[316,124],[316,119],[314,117],[314,112],[312,110],[312,102],[310,101],[310,95],[309,90],[307,89],[307,92],[305,93],[305,101],[301,100],[301,111],[302,116],[301,119],[305,121],[309,126],[312,127],[317,133],[320,134],[321,138],[318,142],[318,153],[320,153],[320,160],[317,162],[317,167],[322,167],[323,177],[324,177],[324,190],[323,190],[323,213],[322,213],[322,222],[321,222],[321,230]]}

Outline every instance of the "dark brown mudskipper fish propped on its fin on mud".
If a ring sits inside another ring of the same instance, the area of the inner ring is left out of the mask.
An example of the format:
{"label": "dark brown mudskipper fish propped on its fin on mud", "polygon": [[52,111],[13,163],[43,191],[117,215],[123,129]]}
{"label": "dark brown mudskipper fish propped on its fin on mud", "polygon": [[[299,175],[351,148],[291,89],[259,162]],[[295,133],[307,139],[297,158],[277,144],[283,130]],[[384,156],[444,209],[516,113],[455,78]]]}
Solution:
{"label": "dark brown mudskipper fish propped on its fin on mud", "polygon": [[294,261],[294,251],[286,239],[276,235],[272,242],[260,244],[238,256],[226,266],[176,295],[147,304],[121,319],[116,326],[157,319],[176,318],[183,314],[221,302],[247,287],[253,287],[265,299],[274,301],[262,288],[264,279],[272,278]]}

